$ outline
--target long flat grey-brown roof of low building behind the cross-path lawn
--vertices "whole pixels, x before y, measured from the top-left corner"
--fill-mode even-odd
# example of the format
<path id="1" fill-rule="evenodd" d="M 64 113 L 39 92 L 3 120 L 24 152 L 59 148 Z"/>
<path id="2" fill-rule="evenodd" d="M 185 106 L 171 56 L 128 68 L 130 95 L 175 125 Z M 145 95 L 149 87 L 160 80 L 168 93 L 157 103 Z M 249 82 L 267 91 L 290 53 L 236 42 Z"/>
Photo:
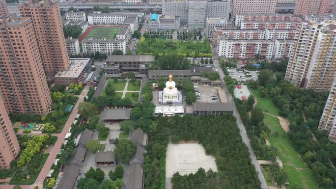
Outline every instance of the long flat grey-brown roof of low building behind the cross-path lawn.
<path id="1" fill-rule="evenodd" d="M 106 62 L 154 62 L 153 55 L 108 55 Z"/>

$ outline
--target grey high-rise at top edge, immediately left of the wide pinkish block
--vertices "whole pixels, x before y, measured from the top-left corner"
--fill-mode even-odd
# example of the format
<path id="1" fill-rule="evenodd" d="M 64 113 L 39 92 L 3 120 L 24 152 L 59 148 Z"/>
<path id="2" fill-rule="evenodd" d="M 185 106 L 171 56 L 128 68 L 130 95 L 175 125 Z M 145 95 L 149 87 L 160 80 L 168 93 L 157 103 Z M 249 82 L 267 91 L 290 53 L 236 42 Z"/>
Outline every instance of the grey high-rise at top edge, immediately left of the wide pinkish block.
<path id="1" fill-rule="evenodd" d="M 208 0 L 206 18 L 221 18 L 229 20 L 231 0 Z"/>

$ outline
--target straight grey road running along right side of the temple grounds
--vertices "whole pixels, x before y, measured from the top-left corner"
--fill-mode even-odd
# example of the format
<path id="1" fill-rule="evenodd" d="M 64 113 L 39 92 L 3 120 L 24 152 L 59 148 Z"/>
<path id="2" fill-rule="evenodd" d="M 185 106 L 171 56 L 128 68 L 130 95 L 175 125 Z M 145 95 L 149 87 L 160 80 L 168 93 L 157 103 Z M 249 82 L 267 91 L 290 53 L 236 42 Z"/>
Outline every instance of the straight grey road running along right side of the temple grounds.
<path id="1" fill-rule="evenodd" d="M 217 60 L 214 61 L 214 66 L 215 66 L 215 68 L 218 69 L 218 72 L 219 72 L 219 74 L 220 74 L 220 76 L 221 76 L 221 80 L 223 81 L 224 73 L 223 73 L 222 68 L 220 68 L 220 66 L 219 66 Z M 223 88 L 224 88 L 224 90 L 225 90 L 225 92 L 226 92 L 226 94 L 227 94 L 227 98 L 228 98 L 229 102 L 230 102 L 230 101 L 233 102 L 232 95 L 231 95 L 230 92 L 228 91 L 227 86 L 226 86 L 226 83 L 225 83 L 224 81 L 223 81 Z M 233 104 L 234 104 L 234 102 L 233 102 Z M 261 188 L 262 188 L 262 189 L 268 189 L 268 187 L 267 187 L 267 183 L 266 183 L 266 180 L 265 180 L 265 177 L 264 177 L 264 175 L 263 175 L 262 172 L 261 172 L 261 168 L 260 168 L 259 162 L 258 162 L 257 159 L 256 159 L 256 156 L 255 156 L 255 154 L 254 154 L 254 151 L 253 151 L 252 146 L 251 146 L 251 143 L 250 143 L 250 139 L 249 139 L 249 137 L 248 137 L 248 135 L 247 135 L 247 133 L 246 133 L 244 124 L 243 124 L 243 122 L 242 122 L 242 119 L 240 118 L 240 115 L 239 115 L 238 110 L 237 110 L 237 108 L 236 108 L 235 105 L 233 106 L 233 115 L 234 115 L 235 117 L 237 117 L 237 125 L 238 125 L 239 129 L 241 130 L 240 135 L 241 135 L 242 138 L 243 138 L 243 142 L 244 142 L 244 143 L 246 144 L 246 146 L 249 148 L 250 158 L 252 159 L 252 164 L 254 165 L 255 170 L 258 172 L 258 177 L 259 177 L 259 180 L 260 180 L 260 182 L 261 182 Z"/>

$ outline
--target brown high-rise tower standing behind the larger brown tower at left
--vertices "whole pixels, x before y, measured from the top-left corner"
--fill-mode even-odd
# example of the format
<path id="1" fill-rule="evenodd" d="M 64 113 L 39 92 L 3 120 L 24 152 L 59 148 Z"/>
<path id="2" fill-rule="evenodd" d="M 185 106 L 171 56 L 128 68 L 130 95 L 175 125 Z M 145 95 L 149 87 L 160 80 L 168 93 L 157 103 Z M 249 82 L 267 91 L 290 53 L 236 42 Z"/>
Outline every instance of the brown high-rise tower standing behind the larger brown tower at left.
<path id="1" fill-rule="evenodd" d="M 69 66 L 58 4 L 49 0 L 29 0 L 19 9 L 22 16 L 31 18 L 44 71 L 48 78 L 54 78 L 57 71 Z"/>

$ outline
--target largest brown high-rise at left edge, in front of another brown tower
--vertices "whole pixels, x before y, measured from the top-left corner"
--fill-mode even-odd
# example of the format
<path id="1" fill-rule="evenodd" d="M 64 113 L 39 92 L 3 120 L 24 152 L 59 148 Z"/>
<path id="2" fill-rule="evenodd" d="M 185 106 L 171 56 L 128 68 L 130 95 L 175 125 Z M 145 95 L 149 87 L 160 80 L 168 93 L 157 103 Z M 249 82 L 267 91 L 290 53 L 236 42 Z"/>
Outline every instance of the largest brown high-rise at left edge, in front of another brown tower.
<path id="1" fill-rule="evenodd" d="M 9 113 L 49 112 L 52 100 L 30 18 L 0 18 L 0 92 Z"/>

